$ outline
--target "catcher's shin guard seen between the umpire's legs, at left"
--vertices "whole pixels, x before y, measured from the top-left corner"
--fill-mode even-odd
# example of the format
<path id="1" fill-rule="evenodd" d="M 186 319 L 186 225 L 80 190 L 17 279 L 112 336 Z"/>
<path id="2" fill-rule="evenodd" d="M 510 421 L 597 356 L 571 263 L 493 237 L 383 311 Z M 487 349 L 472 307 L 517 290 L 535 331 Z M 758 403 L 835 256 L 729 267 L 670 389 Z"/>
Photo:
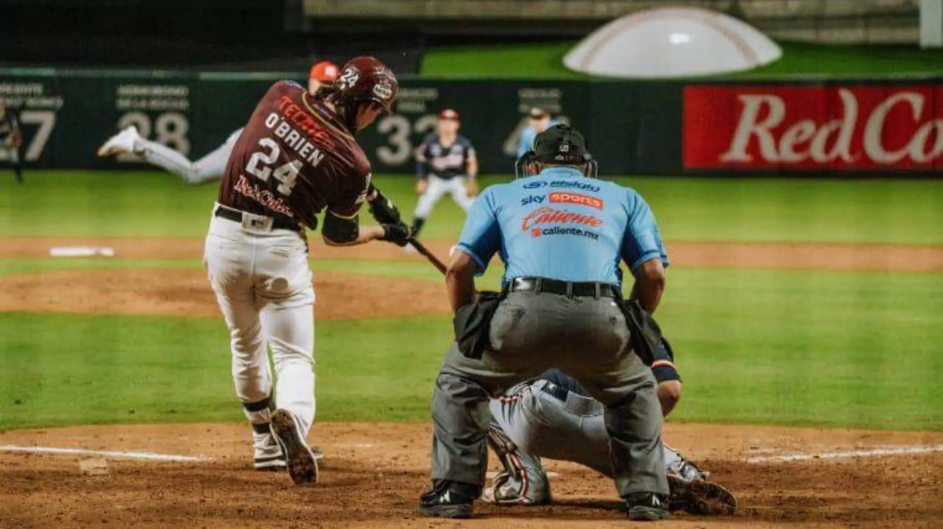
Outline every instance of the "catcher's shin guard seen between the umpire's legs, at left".
<path id="1" fill-rule="evenodd" d="M 505 470 L 482 492 L 483 501 L 497 505 L 547 505 L 551 502 L 550 482 L 538 457 L 523 453 L 496 425 L 488 430 L 488 445 Z"/>

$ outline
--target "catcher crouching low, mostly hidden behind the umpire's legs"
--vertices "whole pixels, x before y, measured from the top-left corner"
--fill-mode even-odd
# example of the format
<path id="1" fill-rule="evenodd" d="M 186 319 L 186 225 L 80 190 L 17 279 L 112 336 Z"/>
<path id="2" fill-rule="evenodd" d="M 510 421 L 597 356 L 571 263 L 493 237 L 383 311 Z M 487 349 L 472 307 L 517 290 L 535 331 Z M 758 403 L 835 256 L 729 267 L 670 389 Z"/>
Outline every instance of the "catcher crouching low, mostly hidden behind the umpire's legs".
<path id="1" fill-rule="evenodd" d="M 670 345 L 664 342 L 652 371 L 661 411 L 668 417 L 681 397 L 681 376 Z M 604 408 L 573 377 L 551 370 L 519 384 L 490 404 L 488 443 L 505 470 L 495 476 L 482 499 L 499 505 L 545 505 L 550 483 L 540 457 L 571 461 L 612 477 Z M 708 475 L 662 444 L 670 479 L 670 510 L 691 514 L 733 514 L 736 498 L 709 482 Z"/>

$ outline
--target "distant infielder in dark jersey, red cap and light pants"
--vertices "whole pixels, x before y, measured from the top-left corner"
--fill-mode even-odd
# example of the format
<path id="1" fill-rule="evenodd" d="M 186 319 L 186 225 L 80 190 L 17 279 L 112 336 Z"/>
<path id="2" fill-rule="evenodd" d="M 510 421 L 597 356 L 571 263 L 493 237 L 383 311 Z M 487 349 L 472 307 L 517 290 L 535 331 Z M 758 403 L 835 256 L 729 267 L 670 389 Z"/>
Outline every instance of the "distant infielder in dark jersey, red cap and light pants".
<path id="1" fill-rule="evenodd" d="M 438 115 L 438 133 L 422 140 L 416 150 L 416 193 L 412 230 L 419 234 L 425 219 L 445 195 L 466 212 L 478 194 L 478 158 L 469 138 L 458 134 L 458 112 L 445 109 Z"/>

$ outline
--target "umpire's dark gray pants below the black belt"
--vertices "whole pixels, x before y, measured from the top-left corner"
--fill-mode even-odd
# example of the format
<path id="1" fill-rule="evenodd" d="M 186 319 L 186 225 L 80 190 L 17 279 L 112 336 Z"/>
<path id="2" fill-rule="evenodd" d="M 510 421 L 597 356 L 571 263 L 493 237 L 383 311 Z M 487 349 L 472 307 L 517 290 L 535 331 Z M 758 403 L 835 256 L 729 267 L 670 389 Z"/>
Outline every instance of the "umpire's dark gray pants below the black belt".
<path id="1" fill-rule="evenodd" d="M 445 354 L 433 395 L 433 480 L 483 487 L 488 398 L 558 368 L 604 406 L 620 495 L 668 494 L 654 377 L 628 338 L 624 316 L 610 298 L 509 294 L 491 321 L 493 352 L 476 361 L 452 345 Z"/>

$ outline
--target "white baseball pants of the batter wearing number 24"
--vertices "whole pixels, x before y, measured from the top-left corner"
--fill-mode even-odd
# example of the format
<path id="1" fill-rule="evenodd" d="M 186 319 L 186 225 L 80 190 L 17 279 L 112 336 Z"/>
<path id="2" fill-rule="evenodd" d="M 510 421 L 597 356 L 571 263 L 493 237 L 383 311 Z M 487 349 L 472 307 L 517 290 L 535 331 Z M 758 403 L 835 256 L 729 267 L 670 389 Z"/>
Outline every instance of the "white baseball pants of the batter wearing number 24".
<path id="1" fill-rule="evenodd" d="M 248 225 L 213 216 L 205 249 L 209 283 L 229 326 L 236 394 L 243 405 L 272 394 L 271 347 L 275 407 L 294 414 L 307 435 L 315 404 L 314 287 L 306 241 L 290 230 Z M 267 412 L 246 411 L 246 417 L 263 423 Z"/>

